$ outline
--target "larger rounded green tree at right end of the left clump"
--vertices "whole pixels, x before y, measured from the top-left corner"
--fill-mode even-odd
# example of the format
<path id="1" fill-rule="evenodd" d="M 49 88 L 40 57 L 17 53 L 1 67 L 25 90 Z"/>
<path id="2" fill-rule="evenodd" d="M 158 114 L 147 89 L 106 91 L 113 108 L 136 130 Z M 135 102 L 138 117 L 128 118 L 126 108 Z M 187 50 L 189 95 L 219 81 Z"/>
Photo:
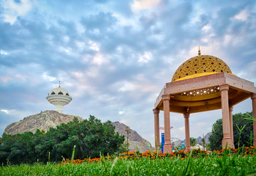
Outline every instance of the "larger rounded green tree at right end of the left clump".
<path id="1" fill-rule="evenodd" d="M 72 122 L 51 128 L 46 136 L 47 144 L 43 146 L 54 153 L 56 147 L 53 146 L 57 145 L 58 159 L 61 159 L 61 155 L 70 158 L 74 145 L 75 158 L 94 158 L 100 156 L 100 153 L 113 154 L 125 140 L 124 136 L 114 132 L 114 126 L 110 121 L 102 123 L 93 116 L 90 116 L 89 120 L 79 122 L 76 118 Z"/>

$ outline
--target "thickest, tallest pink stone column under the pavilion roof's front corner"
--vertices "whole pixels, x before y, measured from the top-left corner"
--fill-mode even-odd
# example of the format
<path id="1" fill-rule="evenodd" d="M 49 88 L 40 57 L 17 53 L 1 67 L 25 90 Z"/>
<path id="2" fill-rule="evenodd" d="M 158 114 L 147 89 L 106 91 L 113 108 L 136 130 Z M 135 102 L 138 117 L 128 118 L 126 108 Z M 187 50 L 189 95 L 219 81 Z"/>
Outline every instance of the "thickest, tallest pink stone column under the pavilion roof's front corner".
<path id="1" fill-rule="evenodd" d="M 228 89 L 227 84 L 221 85 L 219 90 L 222 93 L 222 125 L 223 125 L 223 139 L 222 147 L 232 147 L 232 139 L 230 134 L 230 112 L 228 105 Z"/>

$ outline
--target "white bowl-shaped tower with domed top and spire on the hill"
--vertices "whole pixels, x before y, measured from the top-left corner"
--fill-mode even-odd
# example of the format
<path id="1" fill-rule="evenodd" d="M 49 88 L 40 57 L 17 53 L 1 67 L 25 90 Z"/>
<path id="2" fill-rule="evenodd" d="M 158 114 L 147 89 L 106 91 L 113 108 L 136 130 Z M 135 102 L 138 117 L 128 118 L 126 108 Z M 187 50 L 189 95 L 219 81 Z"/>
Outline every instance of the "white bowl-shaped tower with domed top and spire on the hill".
<path id="1" fill-rule="evenodd" d="M 48 93 L 46 99 L 48 102 L 56 106 L 56 111 L 59 113 L 63 113 L 63 106 L 67 105 L 72 100 L 67 90 L 60 87 L 60 81 L 59 87 L 52 89 L 51 92 Z"/>

